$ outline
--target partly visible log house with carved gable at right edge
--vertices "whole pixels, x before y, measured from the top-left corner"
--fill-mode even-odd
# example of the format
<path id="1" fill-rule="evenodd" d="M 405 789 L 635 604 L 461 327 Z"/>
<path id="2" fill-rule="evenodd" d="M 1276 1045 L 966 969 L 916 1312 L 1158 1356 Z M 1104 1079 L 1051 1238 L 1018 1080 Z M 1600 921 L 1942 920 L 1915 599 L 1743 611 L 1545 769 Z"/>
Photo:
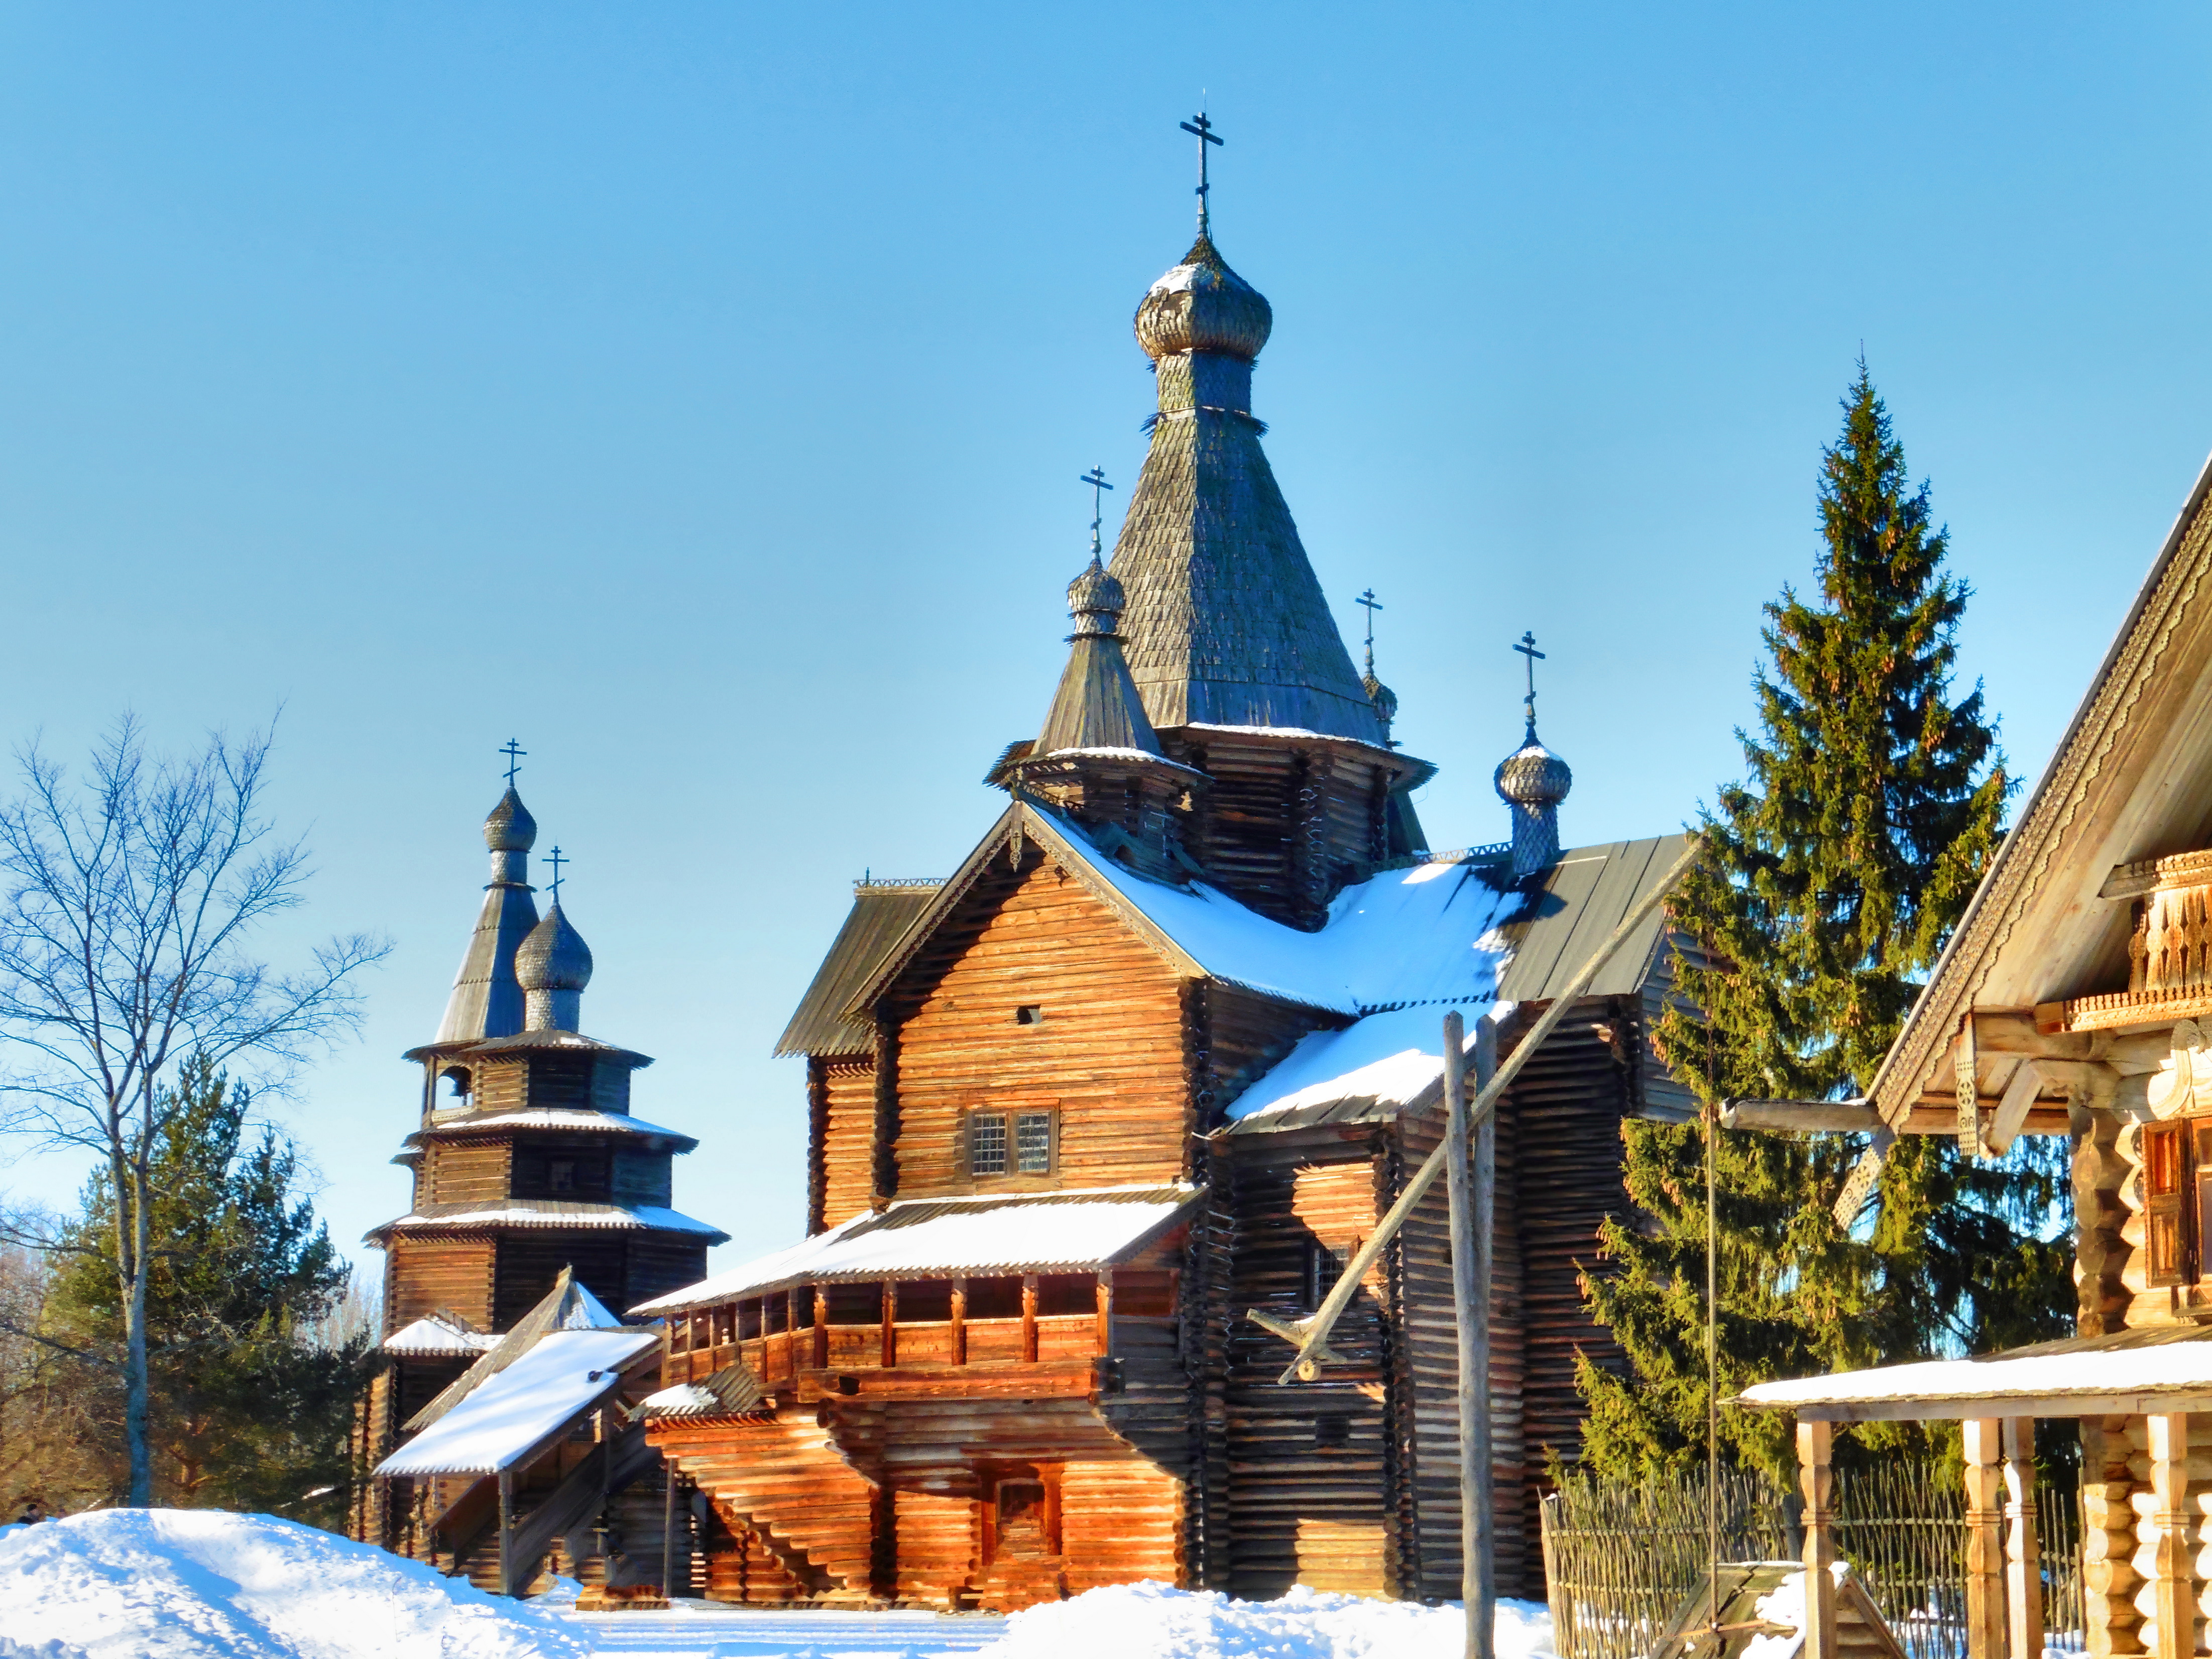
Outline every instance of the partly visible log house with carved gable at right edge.
<path id="1" fill-rule="evenodd" d="M 1807 1564 L 1836 1422 L 1966 1425 L 1969 1650 L 2046 1646 L 2035 1420 L 2081 1433 L 2086 1650 L 2188 1659 L 2212 1613 L 2212 467 L 1858 1106 L 1997 1155 L 2068 1135 L 2079 1334 L 1745 1391 L 1794 1411 Z M 1814 1110 L 1770 1104 L 1767 1126 Z M 1741 1115 L 1741 1113 L 1739 1113 Z M 1814 1498 L 1823 1493 L 1823 1498 Z"/>

